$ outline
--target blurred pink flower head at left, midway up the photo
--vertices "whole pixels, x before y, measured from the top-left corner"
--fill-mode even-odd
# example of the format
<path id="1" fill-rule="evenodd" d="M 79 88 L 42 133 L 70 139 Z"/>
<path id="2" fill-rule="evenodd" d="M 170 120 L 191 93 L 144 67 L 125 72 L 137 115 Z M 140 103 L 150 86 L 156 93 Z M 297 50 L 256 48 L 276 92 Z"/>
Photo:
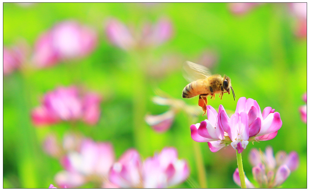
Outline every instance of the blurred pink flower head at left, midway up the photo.
<path id="1" fill-rule="evenodd" d="M 76 87 L 58 87 L 44 95 L 42 105 L 33 109 L 32 122 L 35 126 L 51 125 L 61 120 L 82 119 L 94 125 L 100 117 L 101 97 L 95 93 L 79 95 Z"/>

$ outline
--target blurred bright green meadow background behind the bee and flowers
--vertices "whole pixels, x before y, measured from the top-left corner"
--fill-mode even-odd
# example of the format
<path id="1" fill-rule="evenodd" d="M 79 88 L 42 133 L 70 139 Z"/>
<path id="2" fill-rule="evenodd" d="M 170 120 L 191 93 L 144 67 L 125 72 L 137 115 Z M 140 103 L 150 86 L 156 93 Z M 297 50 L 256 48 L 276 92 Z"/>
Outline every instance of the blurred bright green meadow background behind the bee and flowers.
<path id="1" fill-rule="evenodd" d="M 242 152 L 249 180 L 254 182 L 250 149 L 265 150 L 270 145 L 275 153 L 299 154 L 299 168 L 282 188 L 306 188 L 307 125 L 299 112 L 307 91 L 303 12 L 289 3 L 241 7 L 228 3 L 4 3 L 3 46 L 23 44 L 27 53 L 24 63 L 3 78 L 3 187 L 57 186 L 54 176 L 63 168 L 58 159 L 44 152 L 43 142 L 51 133 L 61 140 L 65 133 L 75 131 L 95 141 L 110 142 L 116 158 L 129 148 L 147 158 L 166 146 L 175 147 L 179 158 L 188 161 L 190 175 L 174 188 L 200 187 L 199 160 L 208 188 L 239 188 L 232 180 L 237 167 L 235 151 L 228 146 L 212 153 L 207 143 L 194 142 L 189 129 L 192 122 L 185 111 L 177 113 L 170 129 L 163 133 L 154 131 L 144 120 L 146 114 L 160 114 L 169 108 L 152 102 L 158 90 L 197 105 L 197 97 L 181 97 L 188 84 L 182 64 L 190 60 L 232 79 L 236 101 L 232 95 L 224 94 L 223 100 L 216 96 L 208 102 L 214 108 L 223 104 L 234 111 L 237 100 L 244 96 L 257 100 L 261 109 L 270 106 L 281 115 L 283 125 L 274 139 L 249 143 Z M 155 24 L 164 18 L 172 31 L 157 45 L 124 49 L 111 43 L 106 33 L 111 18 L 135 33 L 145 23 Z M 93 50 L 81 58 L 36 67 L 31 58 L 38 37 L 66 20 L 96 31 Z M 41 104 L 44 94 L 72 85 L 102 96 L 98 123 L 34 126 L 31 111 Z M 200 112 L 197 122 L 206 119 Z M 198 159 L 197 148 L 201 154 Z M 93 187 L 91 183 L 82 186 Z"/>

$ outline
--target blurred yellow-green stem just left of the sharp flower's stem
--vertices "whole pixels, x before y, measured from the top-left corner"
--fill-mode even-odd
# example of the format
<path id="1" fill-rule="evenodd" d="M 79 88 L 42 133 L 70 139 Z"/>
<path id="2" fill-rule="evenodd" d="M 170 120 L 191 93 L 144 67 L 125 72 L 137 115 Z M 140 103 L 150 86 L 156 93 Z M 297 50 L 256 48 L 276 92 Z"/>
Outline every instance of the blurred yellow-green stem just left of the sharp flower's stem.
<path id="1" fill-rule="evenodd" d="M 201 154 L 199 143 L 193 141 L 193 149 L 195 153 L 196 167 L 198 171 L 198 180 L 199 180 L 200 187 L 207 188 L 206 171 L 203 166 L 202 154 Z"/>

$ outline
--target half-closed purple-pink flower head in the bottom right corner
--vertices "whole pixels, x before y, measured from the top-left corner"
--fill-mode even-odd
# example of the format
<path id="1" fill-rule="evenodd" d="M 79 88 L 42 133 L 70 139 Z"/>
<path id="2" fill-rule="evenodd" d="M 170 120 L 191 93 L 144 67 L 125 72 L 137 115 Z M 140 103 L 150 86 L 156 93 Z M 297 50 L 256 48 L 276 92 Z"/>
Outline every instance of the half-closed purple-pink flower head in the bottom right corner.
<path id="1" fill-rule="evenodd" d="M 290 152 L 288 155 L 284 151 L 279 151 L 274 157 L 271 147 L 266 147 L 265 153 L 257 149 L 251 149 L 249 160 L 253 166 L 254 180 L 259 184 L 259 188 L 279 187 L 290 173 L 299 166 L 298 154 L 295 151 Z M 233 179 L 240 186 L 238 168 L 233 174 Z M 246 182 L 248 182 L 246 184 L 247 188 L 254 188 L 249 180 Z"/>

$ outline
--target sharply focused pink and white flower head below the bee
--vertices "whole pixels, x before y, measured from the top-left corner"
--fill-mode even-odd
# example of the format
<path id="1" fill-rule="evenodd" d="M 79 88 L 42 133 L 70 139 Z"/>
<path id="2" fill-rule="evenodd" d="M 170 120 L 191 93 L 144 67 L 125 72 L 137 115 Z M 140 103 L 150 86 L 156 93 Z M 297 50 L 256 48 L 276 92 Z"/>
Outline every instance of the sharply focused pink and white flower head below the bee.
<path id="1" fill-rule="evenodd" d="M 228 117 L 224 107 L 219 105 L 219 113 L 207 105 L 208 119 L 191 125 L 191 136 L 196 142 L 208 142 L 212 152 L 231 144 L 241 153 L 249 141 L 273 139 L 282 126 L 280 114 L 271 107 L 261 113 L 256 100 L 241 97 L 236 111 Z"/>

